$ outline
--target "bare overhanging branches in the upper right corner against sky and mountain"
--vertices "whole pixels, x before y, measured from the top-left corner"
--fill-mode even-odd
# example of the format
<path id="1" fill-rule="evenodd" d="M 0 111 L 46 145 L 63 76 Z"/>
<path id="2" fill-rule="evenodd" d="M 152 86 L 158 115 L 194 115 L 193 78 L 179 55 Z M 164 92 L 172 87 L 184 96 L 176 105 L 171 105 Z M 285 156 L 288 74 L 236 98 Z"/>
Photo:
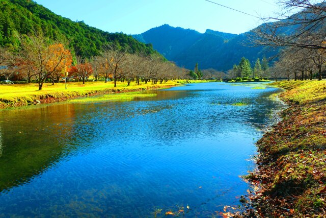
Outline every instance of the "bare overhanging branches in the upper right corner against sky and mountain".
<path id="1" fill-rule="evenodd" d="M 326 37 L 326 7 L 307 0 L 279 0 L 283 10 L 278 17 L 264 18 L 264 25 L 256 28 L 254 42 L 259 45 L 324 49 Z M 299 12 L 297 12 L 300 10 Z M 270 22 L 277 20 L 277 22 Z M 313 40 L 301 40 L 303 36 Z"/>

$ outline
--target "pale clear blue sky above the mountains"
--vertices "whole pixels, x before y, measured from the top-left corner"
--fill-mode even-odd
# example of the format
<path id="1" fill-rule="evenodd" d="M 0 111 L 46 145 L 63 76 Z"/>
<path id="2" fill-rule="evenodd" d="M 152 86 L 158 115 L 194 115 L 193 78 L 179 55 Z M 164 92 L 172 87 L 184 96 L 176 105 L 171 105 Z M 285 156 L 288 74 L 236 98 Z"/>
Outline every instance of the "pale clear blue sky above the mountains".
<path id="1" fill-rule="evenodd" d="M 273 0 L 211 0 L 258 16 L 273 16 L 279 7 Z M 51 11 L 73 21 L 84 20 L 89 26 L 108 32 L 140 34 L 164 25 L 227 33 L 244 33 L 262 23 L 205 0 L 35 0 Z"/>

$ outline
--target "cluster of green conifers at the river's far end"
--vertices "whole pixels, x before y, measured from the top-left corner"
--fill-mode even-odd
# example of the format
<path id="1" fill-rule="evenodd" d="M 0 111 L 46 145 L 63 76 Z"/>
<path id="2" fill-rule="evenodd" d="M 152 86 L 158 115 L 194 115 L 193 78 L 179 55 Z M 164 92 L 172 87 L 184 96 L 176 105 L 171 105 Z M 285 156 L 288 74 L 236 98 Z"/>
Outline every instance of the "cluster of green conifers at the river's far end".
<path id="1" fill-rule="evenodd" d="M 249 78 L 249 77 L 268 77 L 268 60 L 263 57 L 262 63 L 260 59 L 257 58 L 254 68 L 252 68 L 250 61 L 244 57 L 241 58 L 239 65 L 234 64 L 233 68 L 228 71 L 228 77 L 230 79 L 234 78 Z"/>

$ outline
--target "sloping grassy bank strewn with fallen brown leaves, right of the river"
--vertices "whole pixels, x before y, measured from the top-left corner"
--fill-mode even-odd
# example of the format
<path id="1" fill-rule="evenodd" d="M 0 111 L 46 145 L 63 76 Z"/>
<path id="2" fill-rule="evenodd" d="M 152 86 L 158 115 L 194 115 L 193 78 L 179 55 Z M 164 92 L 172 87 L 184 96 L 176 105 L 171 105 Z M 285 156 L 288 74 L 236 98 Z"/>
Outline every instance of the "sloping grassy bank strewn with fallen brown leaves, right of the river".
<path id="1" fill-rule="evenodd" d="M 258 142 L 259 191 L 250 197 L 262 217 L 326 217 L 326 81 L 273 83 L 286 89 L 282 121 Z"/>

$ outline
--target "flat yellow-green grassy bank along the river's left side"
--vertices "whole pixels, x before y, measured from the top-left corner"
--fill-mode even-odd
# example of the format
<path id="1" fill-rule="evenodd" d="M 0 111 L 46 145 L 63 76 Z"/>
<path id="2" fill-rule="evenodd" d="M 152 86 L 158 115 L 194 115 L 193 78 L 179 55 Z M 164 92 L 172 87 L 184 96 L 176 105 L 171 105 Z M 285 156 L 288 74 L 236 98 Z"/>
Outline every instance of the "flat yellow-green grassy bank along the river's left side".
<path id="1" fill-rule="evenodd" d="M 138 92 L 150 89 L 169 88 L 184 84 L 186 80 L 168 81 L 162 84 L 148 84 L 131 82 L 130 86 L 127 83 L 117 82 L 117 87 L 114 87 L 114 82 L 82 82 L 67 83 L 65 89 L 64 83 L 44 84 L 42 90 L 38 90 L 38 85 L 31 84 L 10 84 L 0 85 L 0 108 L 19 107 L 27 105 L 35 105 L 39 103 L 54 103 L 62 102 L 70 99 L 75 99 L 82 96 L 93 96 L 100 94 L 113 94 L 119 92 Z M 207 80 L 188 80 L 188 83 L 210 82 Z M 119 96 L 103 96 L 102 100 L 118 101 L 118 98 L 132 99 L 145 97 L 135 93 L 137 96 L 119 95 Z M 83 100 L 77 100 L 83 101 Z M 94 100 L 95 101 L 95 100 Z"/>

